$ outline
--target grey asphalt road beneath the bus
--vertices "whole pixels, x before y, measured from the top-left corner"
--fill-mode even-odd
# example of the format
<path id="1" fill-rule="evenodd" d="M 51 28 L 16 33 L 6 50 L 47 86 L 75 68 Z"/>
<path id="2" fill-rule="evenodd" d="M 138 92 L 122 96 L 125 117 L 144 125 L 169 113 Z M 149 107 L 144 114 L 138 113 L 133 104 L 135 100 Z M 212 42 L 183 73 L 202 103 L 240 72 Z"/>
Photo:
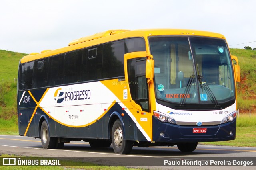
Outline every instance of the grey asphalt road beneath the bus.
<path id="1" fill-rule="evenodd" d="M 253 166 L 225 166 L 225 169 L 255 169 L 256 148 L 255 147 L 222 147 L 210 145 L 198 145 L 194 152 L 180 152 L 177 147 L 133 147 L 129 155 L 117 155 L 112 146 L 109 148 L 92 148 L 89 143 L 78 141 L 65 143 L 63 149 L 43 149 L 40 139 L 32 137 L 0 135 L 0 154 L 15 154 L 34 157 L 55 157 L 55 158 L 79 158 L 87 162 L 106 165 L 143 166 L 149 169 L 174 169 L 187 170 L 199 168 L 216 169 L 223 166 L 164 166 L 164 159 L 175 160 L 211 160 L 225 161 L 237 160 L 246 161 L 253 159 Z M 152 161 L 159 160 L 162 166 L 147 166 Z M 130 161 L 130 163 L 129 163 Z M 133 163 L 136 162 L 137 163 Z M 198 162 L 196 162 L 198 163 Z M 168 165 L 168 164 L 166 164 Z M 217 168 L 217 169 L 218 169 Z"/>

